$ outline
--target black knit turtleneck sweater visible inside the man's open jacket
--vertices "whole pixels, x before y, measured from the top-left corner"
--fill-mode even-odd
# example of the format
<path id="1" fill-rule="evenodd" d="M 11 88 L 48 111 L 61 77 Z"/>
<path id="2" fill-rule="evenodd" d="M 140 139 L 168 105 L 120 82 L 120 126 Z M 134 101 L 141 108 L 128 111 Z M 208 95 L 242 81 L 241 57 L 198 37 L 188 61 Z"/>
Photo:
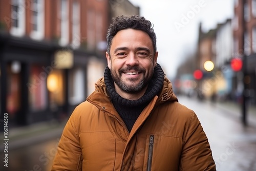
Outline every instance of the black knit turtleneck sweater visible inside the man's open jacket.
<path id="1" fill-rule="evenodd" d="M 159 64 L 154 68 L 154 74 L 150 82 L 148 83 L 145 94 L 138 100 L 128 100 L 122 98 L 116 93 L 114 88 L 114 81 L 112 79 L 110 69 L 106 67 L 104 72 L 104 81 L 106 84 L 106 90 L 111 98 L 111 101 L 123 119 L 129 132 L 139 117 L 145 106 L 156 96 L 162 89 L 164 79 L 164 72 Z"/>

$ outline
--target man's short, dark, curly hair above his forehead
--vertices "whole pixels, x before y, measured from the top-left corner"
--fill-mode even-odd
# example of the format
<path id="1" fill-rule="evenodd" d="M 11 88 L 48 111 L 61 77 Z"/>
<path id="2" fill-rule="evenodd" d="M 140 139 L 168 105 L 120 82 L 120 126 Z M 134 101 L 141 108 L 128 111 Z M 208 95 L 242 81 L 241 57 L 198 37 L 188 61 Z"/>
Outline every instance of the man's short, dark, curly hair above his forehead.
<path id="1" fill-rule="evenodd" d="M 156 34 L 153 29 L 153 24 L 149 21 L 146 20 L 143 16 L 138 16 L 138 15 L 132 15 L 132 16 L 117 16 L 112 18 L 112 24 L 109 27 L 108 34 L 106 35 L 106 51 L 110 54 L 110 47 L 112 44 L 112 39 L 116 35 L 116 33 L 120 30 L 124 29 L 136 29 L 136 30 L 141 30 L 144 31 L 145 33 L 150 36 L 152 43 L 153 43 L 153 48 L 154 48 L 154 54 L 157 51 L 156 47 Z"/>

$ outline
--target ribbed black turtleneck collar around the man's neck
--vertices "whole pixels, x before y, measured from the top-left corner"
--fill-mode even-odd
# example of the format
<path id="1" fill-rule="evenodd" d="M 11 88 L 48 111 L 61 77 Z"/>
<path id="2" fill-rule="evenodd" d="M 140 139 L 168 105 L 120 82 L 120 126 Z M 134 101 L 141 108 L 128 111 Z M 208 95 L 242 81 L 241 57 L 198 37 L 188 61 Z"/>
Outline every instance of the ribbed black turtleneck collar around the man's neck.
<path id="1" fill-rule="evenodd" d="M 114 81 L 112 79 L 110 69 L 108 68 L 108 66 L 105 68 L 104 72 L 106 90 L 112 102 L 115 104 L 120 104 L 122 106 L 127 106 L 129 108 L 148 104 L 154 98 L 154 96 L 158 95 L 159 92 L 161 91 L 163 86 L 163 80 L 164 72 L 161 66 L 157 63 L 157 66 L 154 68 L 154 74 L 152 76 L 152 79 L 148 83 L 148 87 L 145 94 L 138 100 L 128 100 L 122 98 L 119 94 L 116 93 L 114 88 Z"/>

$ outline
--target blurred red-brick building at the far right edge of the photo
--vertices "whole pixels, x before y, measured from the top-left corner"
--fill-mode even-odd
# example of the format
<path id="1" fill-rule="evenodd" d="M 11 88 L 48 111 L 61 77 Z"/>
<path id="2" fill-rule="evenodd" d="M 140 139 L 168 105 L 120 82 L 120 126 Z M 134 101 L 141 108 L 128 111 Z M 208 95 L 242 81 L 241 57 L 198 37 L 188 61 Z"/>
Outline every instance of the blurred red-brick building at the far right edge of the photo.
<path id="1" fill-rule="evenodd" d="M 245 94 L 256 104 L 256 1 L 238 0 L 234 3 L 233 58 L 243 60 L 243 71 L 237 73 L 237 94 Z M 241 76 L 243 75 L 243 77 Z M 242 78 L 241 78 L 242 77 Z M 243 86 L 242 86 L 243 85 Z M 245 90 L 241 92 L 241 87 Z"/>

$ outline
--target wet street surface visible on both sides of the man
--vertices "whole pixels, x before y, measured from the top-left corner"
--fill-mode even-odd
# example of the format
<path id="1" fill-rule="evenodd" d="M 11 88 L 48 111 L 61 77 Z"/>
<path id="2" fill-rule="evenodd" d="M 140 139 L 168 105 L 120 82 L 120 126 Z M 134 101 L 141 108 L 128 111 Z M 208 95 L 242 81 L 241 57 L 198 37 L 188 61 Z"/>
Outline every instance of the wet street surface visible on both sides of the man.
<path id="1" fill-rule="evenodd" d="M 178 96 L 178 99 L 194 110 L 201 121 L 218 171 L 256 170 L 256 124 L 252 119 L 244 127 L 239 118 L 239 108 L 225 108 L 220 103 L 183 96 Z M 56 136 L 45 142 L 9 151 L 8 169 L 4 167 L 4 170 L 50 170 L 58 141 L 59 137 Z M 1 158 L 3 160 L 3 153 Z"/>

